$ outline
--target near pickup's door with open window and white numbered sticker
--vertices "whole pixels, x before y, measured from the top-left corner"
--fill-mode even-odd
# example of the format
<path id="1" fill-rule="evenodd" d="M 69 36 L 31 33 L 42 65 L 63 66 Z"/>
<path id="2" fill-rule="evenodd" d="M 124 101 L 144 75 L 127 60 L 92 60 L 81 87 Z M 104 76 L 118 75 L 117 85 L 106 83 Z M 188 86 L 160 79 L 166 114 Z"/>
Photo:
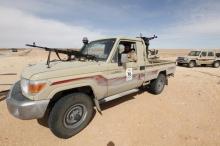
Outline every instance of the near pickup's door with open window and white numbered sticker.
<path id="1" fill-rule="evenodd" d="M 133 60 L 127 58 L 126 61 L 126 55 L 129 55 L 125 50 L 126 47 L 133 51 L 136 59 L 135 57 Z M 143 54 L 141 42 L 121 40 L 117 44 L 116 52 L 110 63 L 108 96 L 137 88 L 144 82 L 145 63 Z"/>

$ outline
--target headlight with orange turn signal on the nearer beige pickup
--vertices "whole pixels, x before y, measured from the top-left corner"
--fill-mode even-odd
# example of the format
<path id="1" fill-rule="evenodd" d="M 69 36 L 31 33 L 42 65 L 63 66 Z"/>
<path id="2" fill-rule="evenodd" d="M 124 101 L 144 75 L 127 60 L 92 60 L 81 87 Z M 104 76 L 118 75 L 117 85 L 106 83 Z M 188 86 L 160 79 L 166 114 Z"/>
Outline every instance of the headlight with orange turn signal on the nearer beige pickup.
<path id="1" fill-rule="evenodd" d="M 21 90 L 26 96 L 35 95 L 42 91 L 47 85 L 47 81 L 31 81 L 27 79 L 21 80 Z"/>

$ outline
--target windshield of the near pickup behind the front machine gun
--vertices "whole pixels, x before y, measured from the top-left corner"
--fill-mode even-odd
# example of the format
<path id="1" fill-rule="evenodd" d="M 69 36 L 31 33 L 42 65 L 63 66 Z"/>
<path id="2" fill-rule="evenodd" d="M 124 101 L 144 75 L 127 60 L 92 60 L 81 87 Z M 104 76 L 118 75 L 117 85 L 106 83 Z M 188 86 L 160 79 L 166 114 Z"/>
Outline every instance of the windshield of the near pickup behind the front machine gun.
<path id="1" fill-rule="evenodd" d="M 82 48 L 81 53 L 84 55 L 92 55 L 97 60 L 106 61 L 116 39 L 104 39 L 92 41 Z"/>

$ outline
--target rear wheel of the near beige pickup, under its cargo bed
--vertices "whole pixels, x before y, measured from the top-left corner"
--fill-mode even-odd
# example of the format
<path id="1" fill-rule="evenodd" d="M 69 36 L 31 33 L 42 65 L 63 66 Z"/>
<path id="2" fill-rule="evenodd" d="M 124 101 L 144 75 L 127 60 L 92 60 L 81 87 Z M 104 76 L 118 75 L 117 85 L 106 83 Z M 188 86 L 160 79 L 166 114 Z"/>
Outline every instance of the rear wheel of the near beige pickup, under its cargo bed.
<path id="1" fill-rule="evenodd" d="M 150 92 L 157 95 L 160 94 L 163 89 L 164 86 L 166 84 L 166 76 L 164 74 L 159 74 L 157 79 L 153 80 L 150 83 Z"/>

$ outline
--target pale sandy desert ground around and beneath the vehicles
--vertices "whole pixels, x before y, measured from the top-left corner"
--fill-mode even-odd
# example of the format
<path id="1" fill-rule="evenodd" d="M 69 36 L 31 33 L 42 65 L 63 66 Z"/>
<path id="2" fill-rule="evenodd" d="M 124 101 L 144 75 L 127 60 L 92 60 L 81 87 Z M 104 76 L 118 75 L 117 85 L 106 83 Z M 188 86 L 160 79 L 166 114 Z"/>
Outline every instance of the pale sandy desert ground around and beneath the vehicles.
<path id="1" fill-rule="evenodd" d="M 187 50 L 161 51 L 175 59 Z M 0 84 L 19 79 L 24 66 L 45 61 L 46 54 L 0 58 Z M 9 88 L 0 85 L 0 90 Z M 0 145 L 13 146 L 217 146 L 220 145 L 220 68 L 177 67 L 175 77 L 160 95 L 145 92 L 102 105 L 91 123 L 76 136 L 63 140 L 36 120 L 12 117 L 0 101 Z"/>

